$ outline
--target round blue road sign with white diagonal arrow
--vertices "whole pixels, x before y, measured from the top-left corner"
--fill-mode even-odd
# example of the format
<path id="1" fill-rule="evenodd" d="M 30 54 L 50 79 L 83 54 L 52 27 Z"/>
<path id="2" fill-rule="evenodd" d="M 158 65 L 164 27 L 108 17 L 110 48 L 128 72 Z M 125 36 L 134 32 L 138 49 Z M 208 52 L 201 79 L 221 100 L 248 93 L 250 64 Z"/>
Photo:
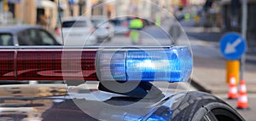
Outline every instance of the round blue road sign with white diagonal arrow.
<path id="1" fill-rule="evenodd" d="M 221 38 L 219 47 L 225 58 L 228 60 L 238 60 L 246 52 L 247 43 L 240 34 L 230 32 Z"/>

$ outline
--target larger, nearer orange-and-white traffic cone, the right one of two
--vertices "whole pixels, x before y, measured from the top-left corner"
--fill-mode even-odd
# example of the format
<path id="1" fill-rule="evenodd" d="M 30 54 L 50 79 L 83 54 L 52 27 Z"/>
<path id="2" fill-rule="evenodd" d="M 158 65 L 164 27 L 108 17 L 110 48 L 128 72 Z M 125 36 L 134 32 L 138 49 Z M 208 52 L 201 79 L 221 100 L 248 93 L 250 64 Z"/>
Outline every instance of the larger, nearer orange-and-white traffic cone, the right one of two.
<path id="1" fill-rule="evenodd" d="M 247 86 L 244 80 L 240 82 L 240 90 L 237 100 L 237 109 L 247 109 L 248 108 L 248 98 L 247 98 Z"/>

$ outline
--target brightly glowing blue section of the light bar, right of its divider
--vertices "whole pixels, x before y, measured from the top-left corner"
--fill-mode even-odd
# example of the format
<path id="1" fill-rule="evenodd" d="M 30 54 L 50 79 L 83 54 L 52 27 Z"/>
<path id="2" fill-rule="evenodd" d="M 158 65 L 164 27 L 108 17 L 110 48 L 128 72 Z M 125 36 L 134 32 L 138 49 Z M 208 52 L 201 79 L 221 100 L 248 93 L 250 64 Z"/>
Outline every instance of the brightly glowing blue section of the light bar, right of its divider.
<path id="1" fill-rule="evenodd" d="M 169 50 L 131 50 L 127 52 L 126 73 L 128 81 L 177 81 L 181 78 L 180 60 Z"/>

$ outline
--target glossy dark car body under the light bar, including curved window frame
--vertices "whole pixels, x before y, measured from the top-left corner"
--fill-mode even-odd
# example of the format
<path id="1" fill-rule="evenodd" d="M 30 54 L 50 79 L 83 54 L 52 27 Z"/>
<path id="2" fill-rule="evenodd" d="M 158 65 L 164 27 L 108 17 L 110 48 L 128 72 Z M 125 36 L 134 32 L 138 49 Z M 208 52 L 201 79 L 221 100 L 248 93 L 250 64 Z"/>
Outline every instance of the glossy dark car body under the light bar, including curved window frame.
<path id="1" fill-rule="evenodd" d="M 147 119 L 160 121 L 170 119 L 199 120 L 208 116 L 212 118 L 212 115 L 209 115 L 209 111 L 212 111 L 211 113 L 215 116 L 215 119 L 218 120 L 242 120 L 235 110 L 227 107 L 227 105 L 223 101 L 219 101 L 217 97 L 208 94 L 199 94 L 198 92 L 174 93 L 171 89 L 170 93 L 165 97 L 161 97 L 158 100 L 145 99 L 137 104 L 137 101 L 140 99 L 104 93 L 105 97 L 102 97 L 102 101 L 95 101 L 91 97 L 96 96 L 97 98 L 101 98 L 99 94 L 102 94 L 102 92 L 90 88 L 90 85 L 91 84 L 83 84 L 77 88 L 70 89 L 69 93 L 67 93 L 66 85 L 64 84 L 0 86 L 0 93 L 2 95 L 0 119 L 60 121 L 94 121 L 102 119 Z M 14 93 L 15 91 L 19 93 Z M 195 98 L 192 96 L 195 96 Z M 192 107 L 191 104 L 195 102 L 199 103 L 204 99 L 209 101 L 208 104 L 204 104 L 205 107 Z M 221 107 L 216 106 L 217 102 Z M 203 109 L 209 110 L 202 112 L 201 110 Z M 215 110 L 223 110 L 223 113 L 217 113 Z M 201 112 L 201 114 L 194 115 L 194 117 L 186 117 L 186 115 L 193 115 L 192 113 L 196 112 Z"/>

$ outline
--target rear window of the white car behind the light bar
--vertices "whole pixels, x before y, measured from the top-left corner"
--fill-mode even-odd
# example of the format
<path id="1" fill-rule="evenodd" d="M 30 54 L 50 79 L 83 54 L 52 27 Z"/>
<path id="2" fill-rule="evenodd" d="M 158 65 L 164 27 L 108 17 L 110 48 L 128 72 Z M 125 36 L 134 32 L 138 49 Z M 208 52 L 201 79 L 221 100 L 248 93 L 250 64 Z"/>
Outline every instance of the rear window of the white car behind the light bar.
<path id="1" fill-rule="evenodd" d="M 62 23 L 62 27 L 69 28 L 69 27 L 85 27 L 87 26 L 87 23 L 85 20 L 70 20 L 70 21 L 64 21 Z"/>

